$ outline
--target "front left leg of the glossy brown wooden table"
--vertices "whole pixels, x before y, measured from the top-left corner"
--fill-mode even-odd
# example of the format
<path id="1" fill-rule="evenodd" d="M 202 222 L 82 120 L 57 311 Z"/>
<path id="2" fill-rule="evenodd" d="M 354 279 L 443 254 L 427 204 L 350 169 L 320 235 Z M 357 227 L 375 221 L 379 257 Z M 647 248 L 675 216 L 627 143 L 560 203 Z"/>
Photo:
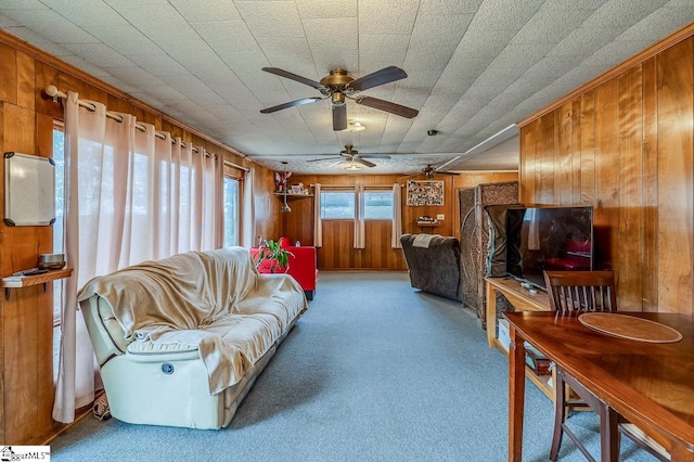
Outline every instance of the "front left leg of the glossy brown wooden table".
<path id="1" fill-rule="evenodd" d="M 513 324 L 509 351 L 509 461 L 523 460 L 523 407 L 525 405 L 525 346 Z"/>

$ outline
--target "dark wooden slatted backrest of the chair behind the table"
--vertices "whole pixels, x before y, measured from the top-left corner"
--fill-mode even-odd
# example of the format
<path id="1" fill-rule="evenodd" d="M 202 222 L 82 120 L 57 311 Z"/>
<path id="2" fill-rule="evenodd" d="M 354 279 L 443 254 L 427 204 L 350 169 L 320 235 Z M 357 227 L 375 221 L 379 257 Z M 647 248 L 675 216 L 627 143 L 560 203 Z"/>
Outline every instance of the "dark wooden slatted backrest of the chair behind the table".
<path id="1" fill-rule="evenodd" d="M 617 311 L 612 271 L 544 271 L 553 311 Z"/>

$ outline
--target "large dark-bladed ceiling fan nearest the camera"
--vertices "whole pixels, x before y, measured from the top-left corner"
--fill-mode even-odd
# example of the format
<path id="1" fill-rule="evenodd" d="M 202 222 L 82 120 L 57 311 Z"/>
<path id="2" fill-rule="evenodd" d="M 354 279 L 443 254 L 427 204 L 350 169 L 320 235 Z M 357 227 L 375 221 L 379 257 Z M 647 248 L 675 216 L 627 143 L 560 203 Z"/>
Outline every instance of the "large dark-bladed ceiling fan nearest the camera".
<path id="1" fill-rule="evenodd" d="M 417 110 L 391 103 L 389 101 L 380 100 L 372 97 L 363 97 L 361 91 L 368 90 L 381 85 L 390 84 L 391 81 L 406 78 L 408 75 L 404 70 L 397 66 L 385 67 L 375 73 L 367 74 L 358 79 L 351 78 L 345 69 L 333 69 L 329 76 L 321 79 L 320 82 L 292 74 L 278 67 L 262 67 L 266 73 L 274 74 L 280 77 L 288 78 L 299 84 L 313 87 L 321 92 L 323 97 L 304 98 L 301 100 L 290 101 L 288 103 L 279 104 L 277 106 L 261 110 L 262 114 L 270 114 L 287 107 L 295 107 L 301 104 L 314 103 L 316 101 L 326 100 L 330 98 L 333 107 L 333 130 L 339 131 L 347 128 L 347 106 L 346 100 L 352 100 L 357 104 L 373 107 L 375 110 L 385 111 L 390 114 L 412 118 L 419 114 Z"/>

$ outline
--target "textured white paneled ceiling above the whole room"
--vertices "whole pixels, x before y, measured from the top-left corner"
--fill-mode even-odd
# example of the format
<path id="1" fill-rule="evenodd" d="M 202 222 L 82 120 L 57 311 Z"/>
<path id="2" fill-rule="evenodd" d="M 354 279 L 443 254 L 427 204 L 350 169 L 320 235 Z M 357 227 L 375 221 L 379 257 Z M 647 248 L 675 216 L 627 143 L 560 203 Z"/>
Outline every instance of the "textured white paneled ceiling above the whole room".
<path id="1" fill-rule="evenodd" d="M 448 169 L 516 169 L 517 137 L 467 152 L 693 20 L 693 0 L 0 0 L 3 30 L 271 168 L 307 174 L 344 172 L 305 161 L 345 144 L 393 156 L 362 174 L 455 157 Z M 348 102 L 367 126 L 348 133 L 332 130 L 327 101 L 259 112 L 320 97 L 264 66 L 320 80 L 390 65 L 408 78 L 362 94 L 414 107 L 413 119 Z"/>

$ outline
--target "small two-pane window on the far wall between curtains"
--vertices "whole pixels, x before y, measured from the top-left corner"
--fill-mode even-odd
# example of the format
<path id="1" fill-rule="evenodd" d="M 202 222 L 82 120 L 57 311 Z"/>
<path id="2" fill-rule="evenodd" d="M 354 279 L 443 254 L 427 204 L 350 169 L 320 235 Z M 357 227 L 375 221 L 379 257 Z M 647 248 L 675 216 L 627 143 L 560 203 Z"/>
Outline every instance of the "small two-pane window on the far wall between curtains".
<path id="1" fill-rule="evenodd" d="M 393 191 L 367 191 L 364 193 L 364 218 L 367 220 L 393 219 Z M 321 192 L 322 220 L 354 220 L 355 192 Z"/>

